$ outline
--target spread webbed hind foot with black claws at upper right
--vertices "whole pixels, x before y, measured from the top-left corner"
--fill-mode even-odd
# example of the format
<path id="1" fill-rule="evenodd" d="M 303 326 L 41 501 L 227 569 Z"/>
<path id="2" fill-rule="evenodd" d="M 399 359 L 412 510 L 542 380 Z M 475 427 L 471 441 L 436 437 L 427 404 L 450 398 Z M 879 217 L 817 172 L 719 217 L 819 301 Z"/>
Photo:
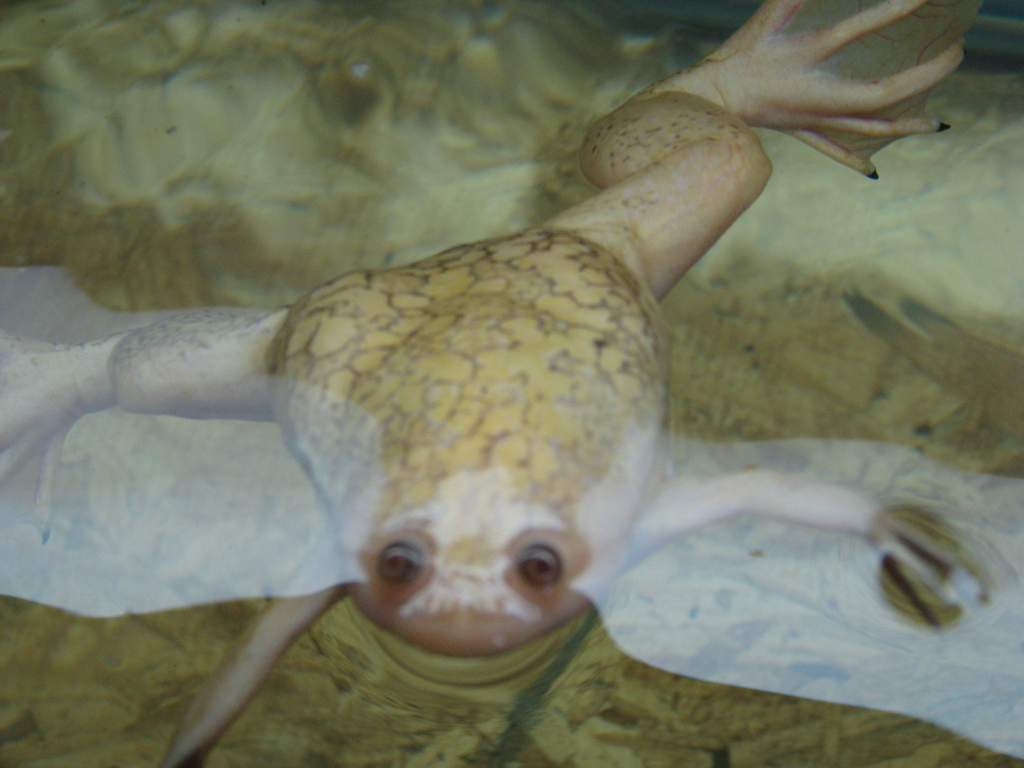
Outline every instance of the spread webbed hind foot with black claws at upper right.
<path id="1" fill-rule="evenodd" d="M 925 100 L 959 66 L 979 5 L 769 0 L 693 74 L 749 124 L 877 178 L 870 157 L 887 143 L 949 127 Z"/>

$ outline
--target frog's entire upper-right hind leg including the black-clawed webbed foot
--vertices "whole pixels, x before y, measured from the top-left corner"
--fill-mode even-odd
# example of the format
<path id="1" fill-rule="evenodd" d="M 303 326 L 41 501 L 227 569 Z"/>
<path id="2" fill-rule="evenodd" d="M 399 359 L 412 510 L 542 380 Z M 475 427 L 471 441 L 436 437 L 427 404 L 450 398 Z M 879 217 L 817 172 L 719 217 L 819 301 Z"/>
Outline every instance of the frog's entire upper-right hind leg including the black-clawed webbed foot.
<path id="1" fill-rule="evenodd" d="M 978 5 L 765 2 L 706 60 L 594 126 L 581 165 L 607 188 L 549 225 L 623 254 L 664 295 L 767 183 L 752 127 L 790 133 L 870 177 L 886 143 L 948 127 L 925 115 L 925 99 L 959 65 Z"/>

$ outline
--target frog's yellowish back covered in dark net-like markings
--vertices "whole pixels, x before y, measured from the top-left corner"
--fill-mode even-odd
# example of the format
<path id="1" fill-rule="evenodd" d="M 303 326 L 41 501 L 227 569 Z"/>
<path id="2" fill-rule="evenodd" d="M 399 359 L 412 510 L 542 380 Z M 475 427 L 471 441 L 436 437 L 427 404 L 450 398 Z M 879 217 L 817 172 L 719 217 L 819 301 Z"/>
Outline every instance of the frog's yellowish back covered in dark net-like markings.
<path id="1" fill-rule="evenodd" d="M 271 370 L 292 384 L 286 432 L 353 406 L 371 417 L 378 461 L 401 477 L 389 509 L 496 465 L 558 507 L 603 476 L 625 429 L 663 419 L 663 347 L 654 299 L 618 259 L 541 230 L 338 279 L 293 308 Z"/>

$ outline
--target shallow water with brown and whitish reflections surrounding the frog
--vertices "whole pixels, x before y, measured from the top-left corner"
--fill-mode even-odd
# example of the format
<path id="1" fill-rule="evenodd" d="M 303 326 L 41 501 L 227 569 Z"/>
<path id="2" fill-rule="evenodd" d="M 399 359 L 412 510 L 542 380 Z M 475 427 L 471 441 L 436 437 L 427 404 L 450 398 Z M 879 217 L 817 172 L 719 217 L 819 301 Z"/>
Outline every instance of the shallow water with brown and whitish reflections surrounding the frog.
<path id="1" fill-rule="evenodd" d="M 78 341 L 139 322 L 124 310 L 271 307 L 348 269 L 543 220 L 588 194 L 574 165 L 586 125 L 714 44 L 670 35 L 665 16 L 620 14 L 633 27 L 623 33 L 548 4 L 439 8 L 4 8 L 0 328 Z M 1024 433 L 1004 393 L 1024 344 L 1024 80 L 971 63 L 932 102 L 953 130 L 883 152 L 879 182 L 766 136 L 765 195 L 664 306 L 678 434 L 882 441 L 1000 475 L 939 475 L 946 502 L 974 513 L 956 529 L 1004 580 L 991 605 L 936 638 L 882 599 L 865 547 L 737 521 L 644 563 L 603 621 L 585 615 L 509 657 L 431 657 L 343 603 L 289 651 L 209 765 L 1019 764 L 985 744 L 1024 754 L 1020 566 L 1000 555 L 1021 551 L 1006 547 L 1020 537 Z M 914 356 L 857 321 L 844 300 L 854 292 L 898 317 L 912 299 L 957 331 L 923 337 Z M 238 592 L 220 597 L 276 593 L 301 565 L 275 557 L 296 516 L 307 531 L 322 522 L 276 437 L 91 416 L 69 438 L 55 509 L 94 517 L 58 516 L 52 541 L 85 552 L 99 541 L 119 565 L 8 561 L 0 573 L 48 585 L 48 602 L 98 601 L 95 613 L 137 604 L 129 594 L 154 608 L 224 584 Z M 680 462 L 697 462 L 687 445 Z M 861 471 L 865 452 L 833 450 L 783 459 Z M 912 464 L 908 493 L 927 495 L 929 466 Z M 240 550 L 266 568 L 232 573 Z M 155 764 L 263 607 L 84 618 L 0 598 L 0 766 Z M 870 677 L 880 669 L 888 678 Z M 908 691 L 902 674 L 925 684 Z M 918 705 L 975 740 L 882 711 Z"/>

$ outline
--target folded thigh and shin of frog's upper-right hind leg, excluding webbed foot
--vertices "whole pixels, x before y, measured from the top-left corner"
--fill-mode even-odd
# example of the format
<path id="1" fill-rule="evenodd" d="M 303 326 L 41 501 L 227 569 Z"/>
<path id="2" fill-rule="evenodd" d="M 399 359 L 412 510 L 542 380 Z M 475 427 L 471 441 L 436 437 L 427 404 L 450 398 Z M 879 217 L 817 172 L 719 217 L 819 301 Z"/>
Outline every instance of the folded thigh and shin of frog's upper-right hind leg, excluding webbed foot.
<path id="1" fill-rule="evenodd" d="M 638 96 L 599 121 L 580 154 L 599 195 L 547 222 L 618 254 L 666 294 L 761 194 L 757 135 L 690 93 Z"/>

